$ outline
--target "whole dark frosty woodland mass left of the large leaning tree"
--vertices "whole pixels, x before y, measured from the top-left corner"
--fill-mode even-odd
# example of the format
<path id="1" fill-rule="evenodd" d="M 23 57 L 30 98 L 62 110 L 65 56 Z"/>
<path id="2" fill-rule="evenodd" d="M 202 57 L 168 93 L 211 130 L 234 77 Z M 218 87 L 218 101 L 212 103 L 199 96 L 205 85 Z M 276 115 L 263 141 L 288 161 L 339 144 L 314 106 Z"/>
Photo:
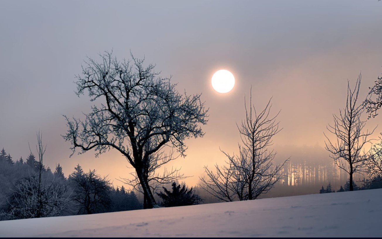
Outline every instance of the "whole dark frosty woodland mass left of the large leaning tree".
<path id="1" fill-rule="evenodd" d="M 42 133 L 37 133 L 36 152 L 28 161 L 22 157 L 16 162 L 0 161 L 0 220 L 53 217 L 62 215 L 93 214 L 141 209 L 133 191 L 114 189 L 106 177 L 95 170 L 84 173 L 77 165 L 65 178 L 57 164 L 55 172 L 44 165 L 46 145 Z M 3 149 L 2 159 L 8 159 Z"/>

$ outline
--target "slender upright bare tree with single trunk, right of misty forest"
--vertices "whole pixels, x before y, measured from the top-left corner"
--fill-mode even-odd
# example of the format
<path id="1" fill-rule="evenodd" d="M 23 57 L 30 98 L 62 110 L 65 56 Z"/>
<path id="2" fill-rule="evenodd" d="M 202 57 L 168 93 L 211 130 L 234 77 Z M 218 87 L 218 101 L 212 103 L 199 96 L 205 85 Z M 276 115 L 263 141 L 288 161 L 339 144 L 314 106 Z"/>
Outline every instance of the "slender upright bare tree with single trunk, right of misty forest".
<path id="1" fill-rule="evenodd" d="M 350 89 L 348 81 L 348 94 L 346 98 L 346 106 L 340 110 L 340 115 L 333 114 L 334 124 L 327 126 L 327 130 L 335 135 L 336 139 L 330 140 L 324 133 L 325 149 L 328 150 L 334 162 L 340 169 L 345 170 L 350 176 L 350 191 L 353 191 L 353 174 L 361 172 L 365 163 L 372 158 L 366 150 L 367 143 L 371 143 L 372 139 L 368 137 L 374 132 L 363 132 L 366 121 L 361 120 L 361 116 L 365 110 L 364 104 L 357 104 L 359 86 L 361 84 L 361 74 L 358 76 L 354 90 Z M 366 152 L 369 151 L 369 152 Z"/>

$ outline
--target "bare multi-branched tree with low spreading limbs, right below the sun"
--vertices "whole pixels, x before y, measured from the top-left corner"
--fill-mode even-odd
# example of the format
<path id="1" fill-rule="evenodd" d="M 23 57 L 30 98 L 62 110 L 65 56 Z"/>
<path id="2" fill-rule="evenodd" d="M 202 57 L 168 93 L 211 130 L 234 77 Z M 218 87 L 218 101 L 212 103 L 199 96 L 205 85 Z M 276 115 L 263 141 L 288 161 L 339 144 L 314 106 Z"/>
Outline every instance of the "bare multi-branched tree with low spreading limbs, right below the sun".
<path id="1" fill-rule="evenodd" d="M 272 98 L 271 98 L 272 99 Z M 257 113 L 252 105 L 252 89 L 249 100 L 249 110 L 244 98 L 246 118 L 238 127 L 241 144 L 239 155 L 230 156 L 227 166 L 215 165 L 216 174 L 205 167 L 207 178 L 201 177 L 201 187 L 222 201 L 253 200 L 272 189 L 282 178 L 282 167 L 289 160 L 274 166 L 276 152 L 270 150 L 272 138 L 281 129 L 278 128 L 276 117 L 270 117 L 272 105 L 268 104 Z"/>

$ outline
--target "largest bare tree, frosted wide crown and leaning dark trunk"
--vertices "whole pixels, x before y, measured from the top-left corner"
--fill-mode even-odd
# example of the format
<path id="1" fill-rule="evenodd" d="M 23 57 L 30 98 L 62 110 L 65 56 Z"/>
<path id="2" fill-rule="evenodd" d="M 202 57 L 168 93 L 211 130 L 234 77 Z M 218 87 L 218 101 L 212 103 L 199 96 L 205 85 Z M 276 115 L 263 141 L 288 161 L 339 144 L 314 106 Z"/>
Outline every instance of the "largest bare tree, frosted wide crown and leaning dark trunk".
<path id="1" fill-rule="evenodd" d="M 135 169 L 144 192 L 147 207 L 157 207 L 148 182 L 151 157 L 165 145 L 175 147 L 185 156 L 185 139 L 202 137 L 199 124 L 207 123 L 207 111 L 200 94 L 188 96 L 176 91 L 170 78 L 154 72 L 154 65 L 143 66 L 143 59 L 117 61 L 112 53 L 100 55 L 102 62 L 91 58 L 77 76 L 79 96 L 85 91 L 91 101 L 103 99 L 93 106 L 85 120 L 73 121 L 66 116 L 68 132 L 63 135 L 84 153 L 94 149 L 95 156 L 110 148 L 118 150 Z"/>

